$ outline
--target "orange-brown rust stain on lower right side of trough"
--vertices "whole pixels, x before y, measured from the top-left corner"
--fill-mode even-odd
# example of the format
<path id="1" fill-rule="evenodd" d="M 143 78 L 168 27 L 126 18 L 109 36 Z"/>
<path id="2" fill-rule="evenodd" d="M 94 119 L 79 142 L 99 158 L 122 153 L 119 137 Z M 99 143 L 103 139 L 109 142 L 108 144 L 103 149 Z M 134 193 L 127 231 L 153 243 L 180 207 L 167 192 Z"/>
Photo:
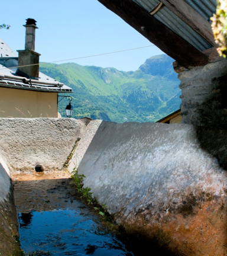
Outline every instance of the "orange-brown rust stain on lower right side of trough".
<path id="1" fill-rule="evenodd" d="M 164 248 L 167 254 L 161 255 L 227 255 L 226 195 L 190 193 L 180 206 L 172 206 L 163 215 L 160 212 L 145 210 L 134 216 L 118 216 L 117 221 L 129 234 L 138 233 Z"/>

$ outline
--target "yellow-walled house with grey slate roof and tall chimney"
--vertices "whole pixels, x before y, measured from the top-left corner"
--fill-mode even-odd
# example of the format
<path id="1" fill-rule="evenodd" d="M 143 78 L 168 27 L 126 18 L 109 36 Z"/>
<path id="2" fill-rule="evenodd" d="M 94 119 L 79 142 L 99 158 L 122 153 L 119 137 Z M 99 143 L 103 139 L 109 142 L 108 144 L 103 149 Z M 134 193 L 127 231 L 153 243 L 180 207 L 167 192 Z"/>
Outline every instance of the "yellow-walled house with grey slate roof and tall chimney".
<path id="1" fill-rule="evenodd" d="M 19 56 L 0 39 L 0 117 L 58 117 L 59 93 L 72 88 L 39 72 L 36 21 L 28 18 L 25 50 Z"/>

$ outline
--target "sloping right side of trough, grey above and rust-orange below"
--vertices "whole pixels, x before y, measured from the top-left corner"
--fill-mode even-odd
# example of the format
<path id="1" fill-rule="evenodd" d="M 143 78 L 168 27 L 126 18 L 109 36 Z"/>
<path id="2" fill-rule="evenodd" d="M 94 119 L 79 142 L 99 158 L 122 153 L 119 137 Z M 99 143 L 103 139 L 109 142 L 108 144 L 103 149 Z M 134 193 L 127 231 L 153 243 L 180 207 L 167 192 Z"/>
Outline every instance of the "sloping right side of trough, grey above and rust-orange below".
<path id="1" fill-rule="evenodd" d="M 116 222 L 169 253 L 227 255 L 226 145 L 226 130 L 102 122 L 78 169 Z"/>

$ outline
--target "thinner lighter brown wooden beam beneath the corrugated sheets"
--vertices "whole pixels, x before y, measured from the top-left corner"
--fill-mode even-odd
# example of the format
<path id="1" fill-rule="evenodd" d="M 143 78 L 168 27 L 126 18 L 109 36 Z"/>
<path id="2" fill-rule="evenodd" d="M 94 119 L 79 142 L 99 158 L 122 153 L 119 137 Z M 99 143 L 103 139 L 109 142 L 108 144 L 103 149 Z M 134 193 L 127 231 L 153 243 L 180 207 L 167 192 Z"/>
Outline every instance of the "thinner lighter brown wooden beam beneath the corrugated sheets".
<path id="1" fill-rule="evenodd" d="M 216 46 L 210 23 L 185 1 L 161 0 L 166 7 L 176 14 L 181 20 L 190 25 L 194 31 L 199 33 L 210 44 Z"/>

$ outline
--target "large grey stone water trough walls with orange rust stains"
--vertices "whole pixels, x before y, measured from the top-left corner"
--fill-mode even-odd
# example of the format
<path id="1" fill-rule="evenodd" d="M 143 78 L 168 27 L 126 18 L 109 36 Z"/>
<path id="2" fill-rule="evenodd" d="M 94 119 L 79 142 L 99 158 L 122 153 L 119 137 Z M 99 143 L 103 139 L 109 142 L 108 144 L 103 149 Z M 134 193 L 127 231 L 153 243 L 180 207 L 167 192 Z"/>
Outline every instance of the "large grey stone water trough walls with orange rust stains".
<path id="1" fill-rule="evenodd" d="M 1 255 L 20 255 L 10 176 L 38 164 L 46 171 L 61 170 L 64 164 L 70 172 L 78 169 L 115 223 L 132 239 L 134 234 L 147 239 L 151 251 L 227 255 L 226 130 L 190 124 L 0 119 L 0 133 Z"/>

